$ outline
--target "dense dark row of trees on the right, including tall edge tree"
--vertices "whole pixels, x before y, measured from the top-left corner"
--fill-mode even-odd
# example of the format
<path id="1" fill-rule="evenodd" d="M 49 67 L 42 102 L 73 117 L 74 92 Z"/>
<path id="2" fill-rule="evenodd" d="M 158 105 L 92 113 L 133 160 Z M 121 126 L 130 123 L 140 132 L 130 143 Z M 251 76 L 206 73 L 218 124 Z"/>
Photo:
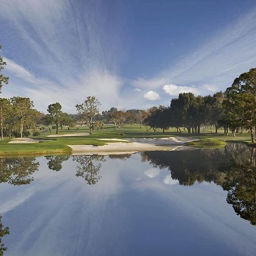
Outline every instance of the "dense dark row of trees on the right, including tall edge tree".
<path id="1" fill-rule="evenodd" d="M 220 127 L 224 134 L 248 130 L 251 142 L 255 142 L 256 125 L 256 68 L 242 73 L 225 92 L 217 92 L 213 96 L 195 96 L 193 93 L 180 93 L 171 100 L 170 106 L 152 107 L 144 124 L 150 129 L 164 130 L 174 127 L 188 134 L 199 134 L 206 126 L 215 126 L 215 133 Z"/>

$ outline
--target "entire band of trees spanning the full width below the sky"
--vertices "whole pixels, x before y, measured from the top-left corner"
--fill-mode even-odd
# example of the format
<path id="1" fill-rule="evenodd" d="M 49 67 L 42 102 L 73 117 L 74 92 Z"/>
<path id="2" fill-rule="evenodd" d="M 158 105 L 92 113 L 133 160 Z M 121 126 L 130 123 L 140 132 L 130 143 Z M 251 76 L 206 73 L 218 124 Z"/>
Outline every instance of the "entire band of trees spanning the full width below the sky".
<path id="1" fill-rule="evenodd" d="M 1 49 L 1 46 L 0 46 Z M 3 84 L 8 84 L 9 78 L 2 75 L 6 65 L 0 56 L 0 93 Z M 1 137 L 28 135 L 32 129 L 38 134 L 36 126 L 45 125 L 51 131 L 65 126 L 88 125 L 90 134 L 94 129 L 102 129 L 104 123 L 113 123 L 116 130 L 123 123 L 139 123 L 146 125 L 148 130 L 158 132 L 173 127 L 181 133 L 181 129 L 190 134 L 199 134 L 207 126 L 215 127 L 215 133 L 223 127 L 224 134 L 231 131 L 233 137 L 237 132 L 247 130 L 251 142 L 255 142 L 256 126 L 256 68 L 242 73 L 225 92 L 214 93 L 213 96 L 195 96 L 193 93 L 180 93 L 172 98 L 169 106 L 153 106 L 148 110 L 131 109 L 118 110 L 111 108 L 100 113 L 100 102 L 94 96 L 88 96 L 84 102 L 76 105 L 76 114 L 64 113 L 59 102 L 48 106 L 47 114 L 34 109 L 30 98 L 13 97 L 0 98 L 0 128 Z M 53 125 L 53 126 L 52 126 Z"/>

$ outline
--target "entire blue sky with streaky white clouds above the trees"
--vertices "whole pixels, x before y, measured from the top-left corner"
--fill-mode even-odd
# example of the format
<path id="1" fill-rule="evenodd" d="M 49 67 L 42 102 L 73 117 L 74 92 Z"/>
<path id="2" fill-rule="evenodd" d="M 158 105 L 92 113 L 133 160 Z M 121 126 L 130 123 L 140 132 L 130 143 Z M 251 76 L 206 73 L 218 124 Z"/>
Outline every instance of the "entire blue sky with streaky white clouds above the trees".
<path id="1" fill-rule="evenodd" d="M 0 0 L 1 97 L 101 110 L 213 94 L 256 67 L 255 0 Z"/>

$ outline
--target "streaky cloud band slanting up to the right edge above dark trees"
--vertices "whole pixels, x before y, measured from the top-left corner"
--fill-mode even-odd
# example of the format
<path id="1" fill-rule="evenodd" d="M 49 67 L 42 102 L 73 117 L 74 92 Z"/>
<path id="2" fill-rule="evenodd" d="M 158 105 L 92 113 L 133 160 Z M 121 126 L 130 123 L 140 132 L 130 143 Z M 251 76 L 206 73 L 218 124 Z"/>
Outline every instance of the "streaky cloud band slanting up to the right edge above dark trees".
<path id="1" fill-rule="evenodd" d="M 154 77 L 139 77 L 133 84 L 152 90 L 166 84 L 195 85 L 197 92 L 204 93 L 224 90 L 240 73 L 255 66 L 255 34 L 256 10 L 253 9 L 247 15 L 238 17 L 235 23 L 216 32 L 207 43 L 183 56 L 176 64 Z M 174 86 L 166 86 L 164 91 L 168 93 L 170 88 Z"/>

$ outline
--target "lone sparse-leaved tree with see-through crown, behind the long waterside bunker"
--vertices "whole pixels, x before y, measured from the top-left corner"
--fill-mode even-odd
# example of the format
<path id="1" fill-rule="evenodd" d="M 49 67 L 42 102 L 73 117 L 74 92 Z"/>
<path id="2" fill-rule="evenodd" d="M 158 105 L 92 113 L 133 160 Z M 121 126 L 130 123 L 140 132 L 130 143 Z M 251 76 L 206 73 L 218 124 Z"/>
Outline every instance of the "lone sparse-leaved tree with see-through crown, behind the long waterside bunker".
<path id="1" fill-rule="evenodd" d="M 90 134 L 94 130 L 94 117 L 100 114 L 98 106 L 100 106 L 100 101 L 94 96 L 88 96 L 84 103 L 76 105 L 77 114 L 80 115 L 80 119 L 84 123 L 89 123 Z"/>

